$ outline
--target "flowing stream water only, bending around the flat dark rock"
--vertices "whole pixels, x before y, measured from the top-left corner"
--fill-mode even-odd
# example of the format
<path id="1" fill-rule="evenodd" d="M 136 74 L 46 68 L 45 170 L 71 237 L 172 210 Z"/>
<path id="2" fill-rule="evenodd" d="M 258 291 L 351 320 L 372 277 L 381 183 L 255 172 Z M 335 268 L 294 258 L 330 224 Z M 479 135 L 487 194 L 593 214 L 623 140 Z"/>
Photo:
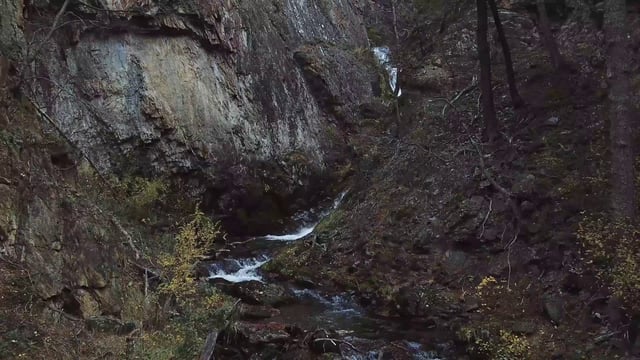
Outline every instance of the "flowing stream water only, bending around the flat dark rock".
<path id="1" fill-rule="evenodd" d="M 341 193 L 324 210 L 314 209 L 294 216 L 293 220 L 298 226 L 290 233 L 239 239 L 236 242 L 239 245 L 231 250 L 226 259 L 209 265 L 210 282 L 223 282 L 227 285 L 255 282 L 267 284 L 261 267 L 271 260 L 278 249 L 313 234 L 316 226 L 340 206 L 345 195 L 346 192 Z M 413 359 L 442 359 L 435 352 L 423 350 L 423 346 L 417 342 L 421 339 L 421 329 L 412 331 L 406 325 L 367 314 L 351 294 L 329 295 L 321 290 L 299 288 L 286 282 L 276 285 L 290 291 L 295 301 L 277 306 L 279 314 L 267 319 L 269 322 L 295 324 L 307 330 L 328 329 L 340 333 L 345 341 L 353 343 L 400 341 Z M 381 354 L 380 351 L 371 350 L 367 353 L 343 353 L 343 357 L 354 360 L 378 359 Z"/>

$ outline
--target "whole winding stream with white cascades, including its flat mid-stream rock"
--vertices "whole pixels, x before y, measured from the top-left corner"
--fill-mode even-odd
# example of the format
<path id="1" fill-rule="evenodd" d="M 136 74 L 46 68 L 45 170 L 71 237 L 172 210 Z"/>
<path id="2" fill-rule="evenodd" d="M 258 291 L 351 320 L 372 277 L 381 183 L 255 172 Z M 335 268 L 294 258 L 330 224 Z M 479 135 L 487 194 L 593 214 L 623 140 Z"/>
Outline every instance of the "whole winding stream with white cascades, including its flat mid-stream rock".
<path id="1" fill-rule="evenodd" d="M 321 289 L 269 283 L 261 273 L 260 268 L 271 260 L 275 251 L 313 234 L 322 219 L 340 206 L 345 195 L 346 192 L 341 193 L 323 211 L 310 210 L 295 216 L 298 226 L 289 234 L 240 239 L 226 259 L 209 265 L 209 282 L 242 299 L 249 309 L 248 317 L 258 324 L 292 324 L 316 332 L 322 329 L 327 334 L 324 337 L 340 339 L 340 344 L 348 346 L 339 346 L 339 351 L 327 352 L 339 352 L 344 359 L 380 359 L 382 353 L 387 351 L 381 349 L 386 349 L 390 342 L 404 349 L 406 356 L 409 356 L 400 355 L 391 359 L 440 359 L 434 352 L 423 350 L 421 344 L 409 341 L 419 338 L 412 336 L 419 332 L 418 329 L 412 332 L 403 324 L 367 314 L 352 294 L 327 294 Z"/>

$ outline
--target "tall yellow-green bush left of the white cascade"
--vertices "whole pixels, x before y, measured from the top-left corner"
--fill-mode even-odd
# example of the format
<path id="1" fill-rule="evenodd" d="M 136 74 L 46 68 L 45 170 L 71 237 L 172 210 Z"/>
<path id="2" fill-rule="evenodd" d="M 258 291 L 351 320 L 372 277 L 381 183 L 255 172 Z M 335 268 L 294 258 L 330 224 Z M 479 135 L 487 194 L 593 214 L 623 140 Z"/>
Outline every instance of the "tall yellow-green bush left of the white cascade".
<path id="1" fill-rule="evenodd" d="M 221 236 L 220 224 L 198 209 L 180 228 L 173 252 L 160 259 L 167 280 L 151 297 L 158 308 L 161 297 L 175 299 L 179 315 L 159 330 L 145 333 L 135 345 L 134 359 L 194 359 L 207 334 L 230 323 L 233 299 L 199 283 L 194 274 L 195 265 Z M 137 302 L 140 303 L 139 294 Z"/>

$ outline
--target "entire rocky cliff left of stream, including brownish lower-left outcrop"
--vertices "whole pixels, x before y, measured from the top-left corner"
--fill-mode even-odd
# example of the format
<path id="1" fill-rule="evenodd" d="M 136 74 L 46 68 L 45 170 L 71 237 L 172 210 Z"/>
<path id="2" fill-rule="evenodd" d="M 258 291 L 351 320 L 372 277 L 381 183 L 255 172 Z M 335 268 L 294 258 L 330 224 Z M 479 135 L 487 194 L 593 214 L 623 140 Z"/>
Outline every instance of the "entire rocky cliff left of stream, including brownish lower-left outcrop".
<path id="1" fill-rule="evenodd" d="M 359 1 L 0 6 L 0 288 L 116 331 L 149 278 L 137 248 L 175 230 L 149 226 L 167 217 L 147 206 L 157 191 L 130 216 L 120 185 L 168 183 L 180 191 L 164 204 L 202 201 L 228 230 L 263 231 L 329 185 L 377 81 Z"/>

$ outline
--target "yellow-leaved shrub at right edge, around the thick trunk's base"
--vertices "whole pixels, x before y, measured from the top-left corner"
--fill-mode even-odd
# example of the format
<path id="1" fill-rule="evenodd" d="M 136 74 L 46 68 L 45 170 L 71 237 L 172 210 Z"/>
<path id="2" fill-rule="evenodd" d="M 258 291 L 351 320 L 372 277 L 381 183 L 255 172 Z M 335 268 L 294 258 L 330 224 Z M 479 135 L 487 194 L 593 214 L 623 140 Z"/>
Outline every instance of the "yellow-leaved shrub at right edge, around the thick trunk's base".
<path id="1" fill-rule="evenodd" d="M 585 216 L 577 235 L 587 261 L 596 267 L 599 277 L 632 311 L 640 311 L 640 229 L 600 214 Z"/>

